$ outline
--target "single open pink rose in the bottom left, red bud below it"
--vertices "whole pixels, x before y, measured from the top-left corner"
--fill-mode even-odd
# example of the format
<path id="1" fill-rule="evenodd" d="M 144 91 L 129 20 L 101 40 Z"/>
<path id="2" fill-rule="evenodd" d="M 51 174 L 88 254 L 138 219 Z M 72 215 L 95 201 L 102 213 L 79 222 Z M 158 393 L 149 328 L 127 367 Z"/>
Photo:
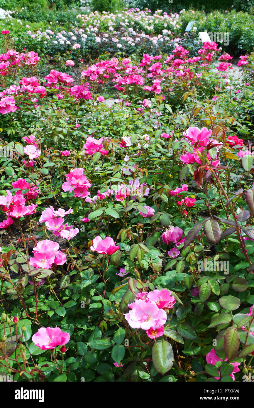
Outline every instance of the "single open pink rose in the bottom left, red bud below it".
<path id="1" fill-rule="evenodd" d="M 69 340 L 69 333 L 62 332 L 60 327 L 40 327 L 32 337 L 35 346 L 40 347 L 41 350 L 64 346 Z"/>

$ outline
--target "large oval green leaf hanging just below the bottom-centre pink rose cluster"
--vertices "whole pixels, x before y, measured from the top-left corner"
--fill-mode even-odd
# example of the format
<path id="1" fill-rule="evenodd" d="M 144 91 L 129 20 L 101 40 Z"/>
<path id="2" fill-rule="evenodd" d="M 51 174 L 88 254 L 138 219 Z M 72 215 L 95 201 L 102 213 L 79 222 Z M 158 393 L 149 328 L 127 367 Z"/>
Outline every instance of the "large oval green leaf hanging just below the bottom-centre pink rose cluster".
<path id="1" fill-rule="evenodd" d="M 160 374 L 167 373 L 173 366 L 173 349 L 165 340 L 157 340 L 152 347 L 152 363 Z"/>

